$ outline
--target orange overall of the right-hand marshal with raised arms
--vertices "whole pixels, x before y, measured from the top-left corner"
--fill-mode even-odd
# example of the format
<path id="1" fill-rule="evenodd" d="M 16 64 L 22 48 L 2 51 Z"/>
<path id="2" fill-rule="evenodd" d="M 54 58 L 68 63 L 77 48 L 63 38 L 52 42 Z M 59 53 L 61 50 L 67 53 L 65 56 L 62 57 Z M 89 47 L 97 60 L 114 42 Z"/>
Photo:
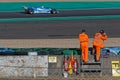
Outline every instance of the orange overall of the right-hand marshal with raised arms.
<path id="1" fill-rule="evenodd" d="M 93 47 L 96 51 L 96 61 L 100 60 L 100 49 L 104 47 L 104 40 L 106 40 L 107 38 L 107 35 L 102 35 L 101 33 L 96 33 L 94 36 Z"/>

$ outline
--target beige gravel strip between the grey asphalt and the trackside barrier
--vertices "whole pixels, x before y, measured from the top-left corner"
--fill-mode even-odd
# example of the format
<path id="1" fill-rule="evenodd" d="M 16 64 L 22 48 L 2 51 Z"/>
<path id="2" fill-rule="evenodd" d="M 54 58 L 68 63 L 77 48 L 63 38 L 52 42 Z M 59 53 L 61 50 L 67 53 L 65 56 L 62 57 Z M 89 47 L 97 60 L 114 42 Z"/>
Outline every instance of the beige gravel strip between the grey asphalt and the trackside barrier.
<path id="1" fill-rule="evenodd" d="M 109 38 L 105 47 L 120 46 L 120 38 Z M 1 39 L 0 47 L 10 48 L 79 48 L 77 39 Z M 92 47 L 92 39 L 89 41 Z"/>

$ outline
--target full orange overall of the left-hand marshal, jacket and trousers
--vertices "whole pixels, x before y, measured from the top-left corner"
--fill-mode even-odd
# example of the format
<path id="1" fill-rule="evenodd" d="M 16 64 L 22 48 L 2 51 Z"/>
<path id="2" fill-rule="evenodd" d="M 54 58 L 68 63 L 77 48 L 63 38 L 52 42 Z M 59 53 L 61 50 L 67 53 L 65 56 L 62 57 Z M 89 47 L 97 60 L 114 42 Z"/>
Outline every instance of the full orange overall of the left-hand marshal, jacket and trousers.
<path id="1" fill-rule="evenodd" d="M 82 60 L 88 62 L 88 35 L 86 33 L 79 34 L 80 47 L 82 49 Z"/>

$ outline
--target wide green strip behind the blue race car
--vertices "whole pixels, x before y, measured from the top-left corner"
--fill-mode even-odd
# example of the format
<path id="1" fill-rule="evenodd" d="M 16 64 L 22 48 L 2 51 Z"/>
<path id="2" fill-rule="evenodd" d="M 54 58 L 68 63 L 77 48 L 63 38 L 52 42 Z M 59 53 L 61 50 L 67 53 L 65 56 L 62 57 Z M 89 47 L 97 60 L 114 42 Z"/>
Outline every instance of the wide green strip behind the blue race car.
<path id="1" fill-rule="evenodd" d="M 120 2 L 1 2 L 0 11 L 23 11 L 22 6 L 69 9 L 120 8 Z"/>

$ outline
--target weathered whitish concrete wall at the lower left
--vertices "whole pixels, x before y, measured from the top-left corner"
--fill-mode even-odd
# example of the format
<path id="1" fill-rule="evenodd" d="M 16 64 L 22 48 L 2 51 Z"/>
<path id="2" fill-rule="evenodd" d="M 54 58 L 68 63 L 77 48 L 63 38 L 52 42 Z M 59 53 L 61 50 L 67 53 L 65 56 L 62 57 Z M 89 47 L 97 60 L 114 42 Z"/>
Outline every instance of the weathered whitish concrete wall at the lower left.
<path id="1" fill-rule="evenodd" d="M 48 56 L 0 56 L 0 78 L 48 76 Z"/>

